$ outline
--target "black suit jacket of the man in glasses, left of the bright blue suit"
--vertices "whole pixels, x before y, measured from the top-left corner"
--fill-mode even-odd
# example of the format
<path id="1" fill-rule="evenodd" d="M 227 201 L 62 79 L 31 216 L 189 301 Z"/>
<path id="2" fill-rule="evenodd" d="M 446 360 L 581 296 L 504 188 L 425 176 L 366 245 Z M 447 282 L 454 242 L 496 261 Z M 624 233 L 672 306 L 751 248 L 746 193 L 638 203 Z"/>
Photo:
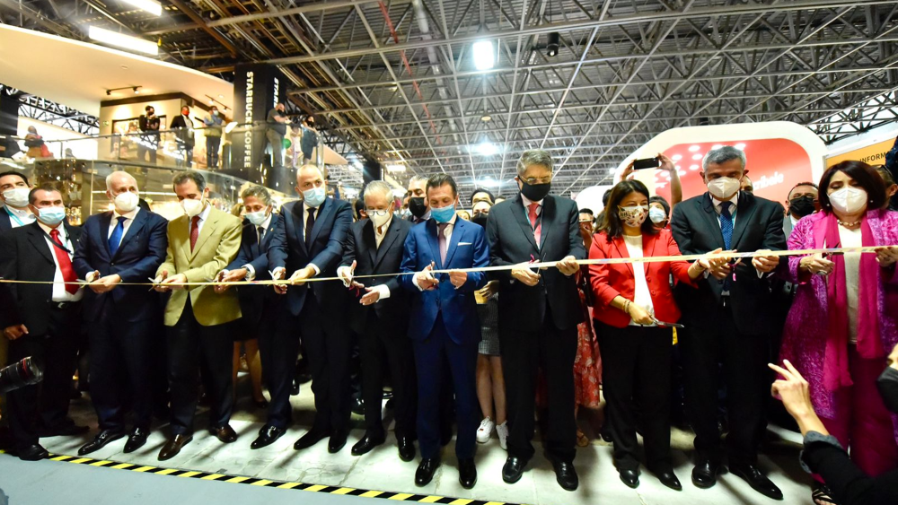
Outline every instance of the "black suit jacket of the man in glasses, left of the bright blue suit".
<path id="1" fill-rule="evenodd" d="M 354 222 L 349 230 L 346 253 L 340 266 L 351 266 L 356 261 L 356 275 L 395 274 L 402 263 L 405 239 L 412 228 L 411 222 L 393 217 L 390 228 L 377 247 L 374 238 L 374 223 L 370 219 Z M 385 284 L 390 289 L 390 298 L 378 300 L 374 305 L 362 305 L 358 299 L 349 303 L 349 326 L 361 335 L 365 330 L 368 313 L 374 310 L 382 324 L 387 325 L 391 335 L 406 336 L 409 325 L 409 293 L 402 289 L 398 275 L 358 279 L 365 286 Z M 363 293 L 364 294 L 364 293 Z"/>

